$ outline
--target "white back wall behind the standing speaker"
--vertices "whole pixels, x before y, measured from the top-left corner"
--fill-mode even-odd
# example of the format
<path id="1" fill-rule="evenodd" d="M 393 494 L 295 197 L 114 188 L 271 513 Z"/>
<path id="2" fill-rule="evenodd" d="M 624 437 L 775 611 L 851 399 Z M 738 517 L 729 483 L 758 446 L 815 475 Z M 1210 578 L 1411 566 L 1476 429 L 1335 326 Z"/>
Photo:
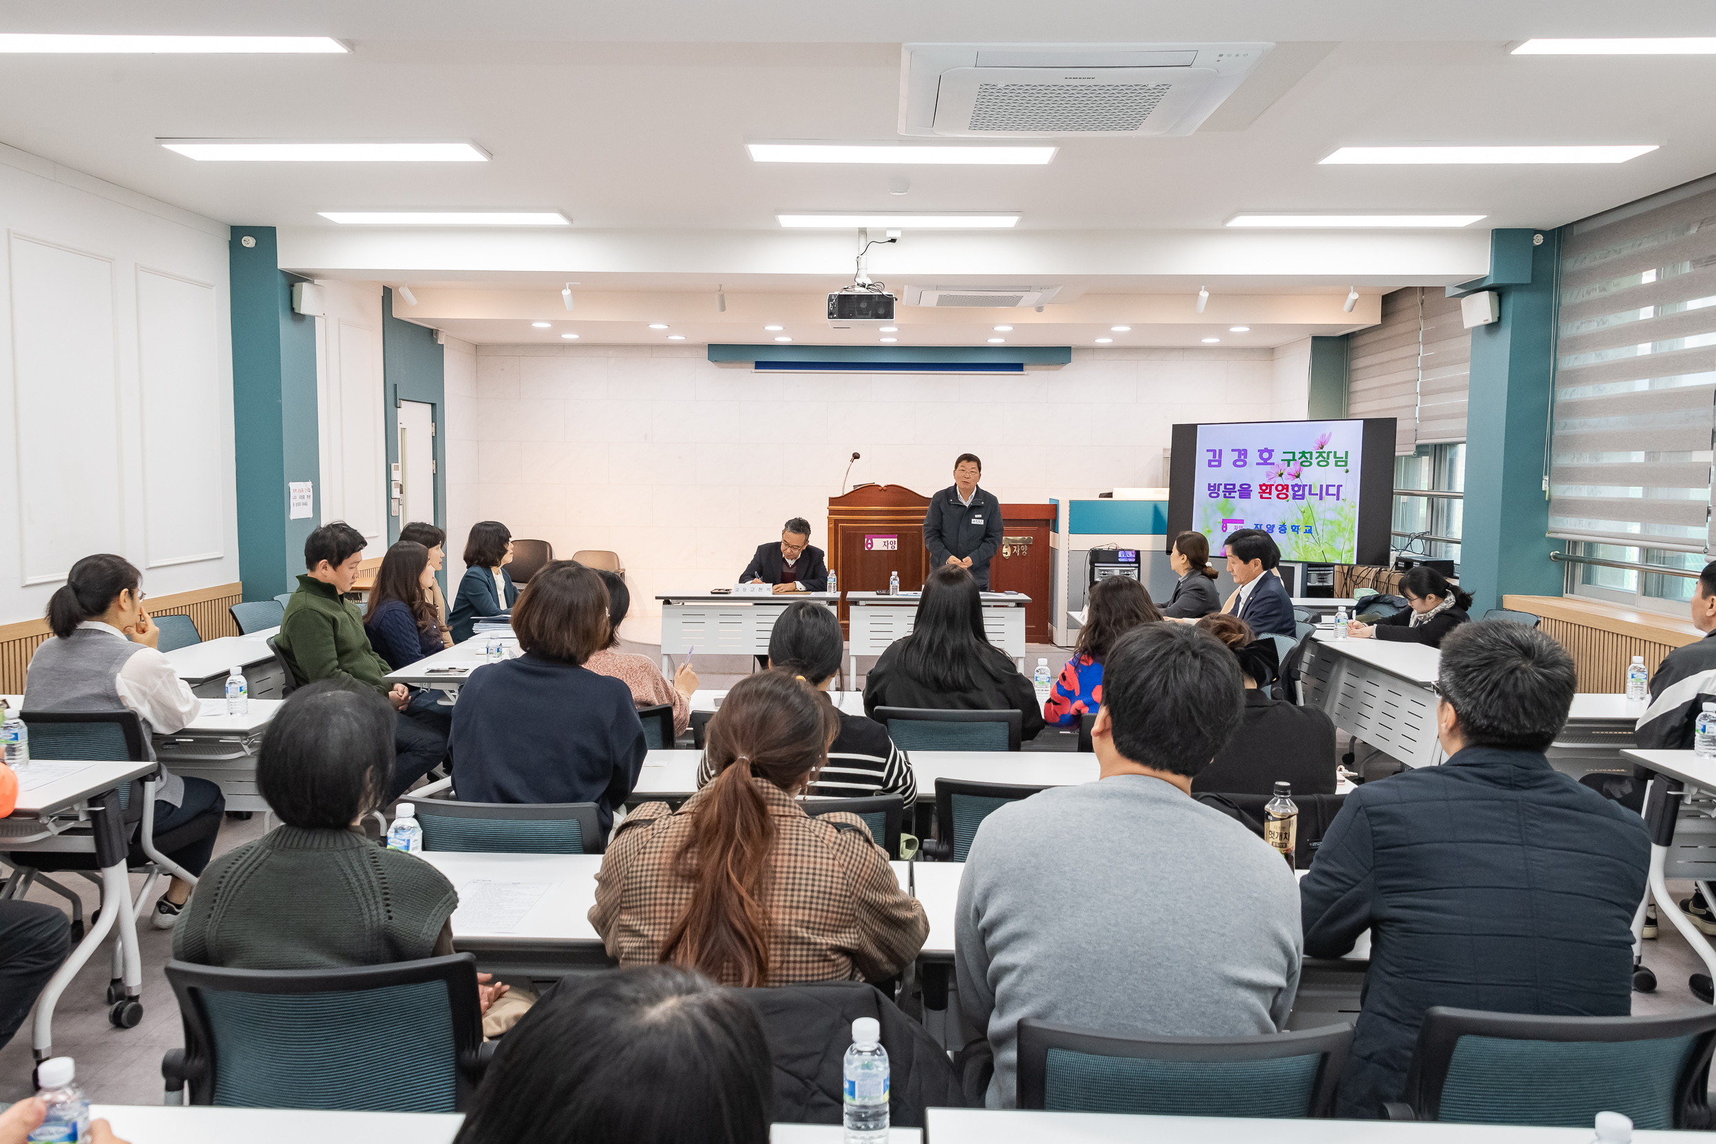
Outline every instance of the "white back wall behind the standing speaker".
<path id="1" fill-rule="evenodd" d="M 855 451 L 851 482 L 921 494 L 952 484 L 963 451 L 1009 503 L 1163 484 L 1174 422 L 1304 417 L 1309 343 L 1296 345 L 1074 350 L 1059 370 L 947 377 L 753 374 L 710 365 L 702 346 L 468 357 L 450 343 L 450 576 L 470 525 L 492 518 L 556 556 L 613 549 L 633 617 L 657 616 L 656 592 L 733 583 L 789 516 L 825 547 Z"/>

